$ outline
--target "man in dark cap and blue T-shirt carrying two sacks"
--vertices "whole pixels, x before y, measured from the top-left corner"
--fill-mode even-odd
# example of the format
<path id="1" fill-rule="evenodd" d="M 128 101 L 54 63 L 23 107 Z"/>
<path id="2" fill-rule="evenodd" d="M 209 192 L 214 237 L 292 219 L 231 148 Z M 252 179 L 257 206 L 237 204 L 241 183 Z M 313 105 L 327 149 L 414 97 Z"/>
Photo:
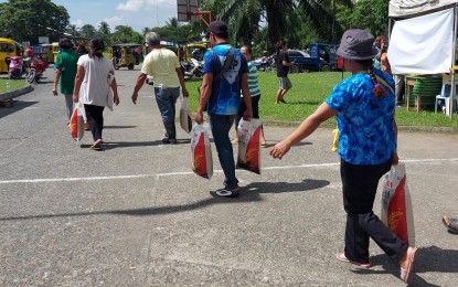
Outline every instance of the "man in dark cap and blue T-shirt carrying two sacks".
<path id="1" fill-rule="evenodd" d="M 222 71 L 227 55 L 233 50 L 227 43 L 228 32 L 224 22 L 213 21 L 210 23 L 206 38 L 213 49 L 204 55 L 204 76 L 195 123 L 202 125 L 203 111 L 207 106 L 213 140 L 226 178 L 224 188 L 217 190 L 216 194 L 236 198 L 239 187 L 235 177 L 234 155 L 228 132 L 238 111 L 241 89 L 247 107 L 244 118 L 251 119 L 253 117 L 248 89 L 248 65 L 245 56 L 238 50 L 234 50 L 232 63 L 226 71 Z M 221 76 L 217 76 L 220 72 L 222 72 Z"/>

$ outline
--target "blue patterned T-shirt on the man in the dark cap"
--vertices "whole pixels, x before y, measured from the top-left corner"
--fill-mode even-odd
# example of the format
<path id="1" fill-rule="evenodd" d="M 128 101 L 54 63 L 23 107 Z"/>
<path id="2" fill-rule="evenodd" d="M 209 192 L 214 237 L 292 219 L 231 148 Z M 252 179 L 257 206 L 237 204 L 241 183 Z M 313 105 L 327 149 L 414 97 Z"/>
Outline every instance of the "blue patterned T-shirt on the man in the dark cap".
<path id="1" fill-rule="evenodd" d="M 230 44 L 215 45 L 204 54 L 203 73 L 212 73 L 213 77 L 223 68 L 224 60 L 231 50 Z M 216 115 L 236 115 L 241 100 L 241 77 L 248 73 L 245 56 L 234 50 L 232 66 L 223 73 L 219 81 L 213 82 L 209 98 L 207 113 Z"/>

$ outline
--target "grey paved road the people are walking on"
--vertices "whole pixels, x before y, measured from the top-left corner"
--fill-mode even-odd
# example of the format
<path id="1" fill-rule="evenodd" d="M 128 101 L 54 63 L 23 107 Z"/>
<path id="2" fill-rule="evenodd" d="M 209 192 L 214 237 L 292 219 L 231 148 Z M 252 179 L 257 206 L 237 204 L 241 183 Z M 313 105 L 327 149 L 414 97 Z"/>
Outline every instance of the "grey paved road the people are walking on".
<path id="1" fill-rule="evenodd" d="M 219 163 L 211 180 L 194 176 L 182 130 L 180 145 L 161 145 L 152 87 L 130 103 L 138 67 L 117 72 L 121 105 L 105 111 L 102 152 L 71 139 L 51 72 L 0 108 L 1 286 L 404 286 L 374 243 L 369 270 L 334 259 L 345 217 L 331 130 L 283 160 L 263 149 L 262 176 L 237 171 L 242 196 L 214 198 Z M 273 145 L 292 129 L 265 130 Z M 458 216 L 457 142 L 400 134 L 419 247 L 412 286 L 458 284 L 458 236 L 440 223 Z"/>

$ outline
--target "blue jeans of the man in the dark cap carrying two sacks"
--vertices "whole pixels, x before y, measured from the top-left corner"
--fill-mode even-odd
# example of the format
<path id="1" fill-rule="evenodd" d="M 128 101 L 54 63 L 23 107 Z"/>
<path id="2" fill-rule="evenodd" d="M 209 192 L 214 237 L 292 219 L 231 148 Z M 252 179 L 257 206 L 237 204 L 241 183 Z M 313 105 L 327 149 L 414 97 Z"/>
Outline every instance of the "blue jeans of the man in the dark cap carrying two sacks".
<path id="1" fill-rule="evenodd" d="M 228 188 L 237 187 L 238 180 L 235 177 L 234 152 L 228 137 L 231 127 L 234 124 L 235 115 L 209 114 L 209 118 L 221 168 L 226 177 L 226 185 Z"/>

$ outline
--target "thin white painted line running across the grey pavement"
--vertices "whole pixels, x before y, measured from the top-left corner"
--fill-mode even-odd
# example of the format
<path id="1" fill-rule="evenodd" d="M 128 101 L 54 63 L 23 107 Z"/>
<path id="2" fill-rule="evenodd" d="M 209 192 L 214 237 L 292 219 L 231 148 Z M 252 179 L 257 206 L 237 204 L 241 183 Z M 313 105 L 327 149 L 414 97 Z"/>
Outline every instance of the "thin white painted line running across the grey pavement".
<path id="1" fill-rule="evenodd" d="M 428 162 L 454 162 L 458 161 L 458 158 L 451 159 L 407 159 L 402 162 L 408 163 L 428 163 Z M 266 167 L 262 170 L 280 170 L 280 169 L 299 169 L 299 168 L 321 168 L 321 167 L 338 167 L 339 162 L 331 163 L 313 163 L 313 164 L 299 164 L 299 166 L 284 166 L 284 167 Z M 213 173 L 221 173 L 222 170 L 214 170 Z M 90 177 L 90 178 L 56 178 L 56 179 L 29 179 L 29 180 L 2 180 L 0 184 L 13 184 L 13 183 L 44 183 L 44 182 L 64 182 L 64 181 L 93 181 L 93 180 L 119 180 L 119 179 L 139 179 L 139 178 L 156 178 L 161 177 L 175 177 L 175 176 L 189 176 L 194 174 L 192 171 L 177 171 L 156 174 L 136 174 L 136 176 L 111 176 L 111 177 Z"/>

